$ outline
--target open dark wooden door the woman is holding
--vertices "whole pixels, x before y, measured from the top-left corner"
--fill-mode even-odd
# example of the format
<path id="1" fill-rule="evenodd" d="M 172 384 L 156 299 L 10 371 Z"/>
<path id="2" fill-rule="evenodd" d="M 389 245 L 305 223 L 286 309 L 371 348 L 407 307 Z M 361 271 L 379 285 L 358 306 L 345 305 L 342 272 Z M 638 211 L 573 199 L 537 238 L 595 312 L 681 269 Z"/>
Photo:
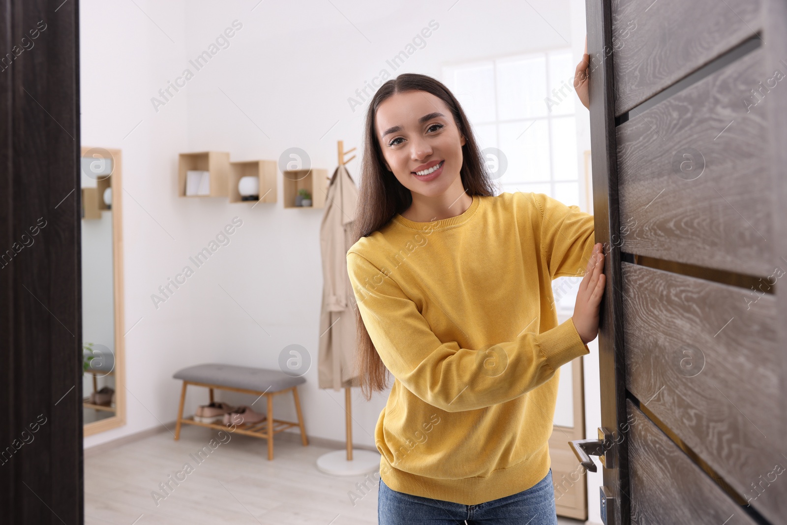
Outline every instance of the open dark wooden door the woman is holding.
<path id="1" fill-rule="evenodd" d="M 604 521 L 785 523 L 787 5 L 586 6 Z"/>

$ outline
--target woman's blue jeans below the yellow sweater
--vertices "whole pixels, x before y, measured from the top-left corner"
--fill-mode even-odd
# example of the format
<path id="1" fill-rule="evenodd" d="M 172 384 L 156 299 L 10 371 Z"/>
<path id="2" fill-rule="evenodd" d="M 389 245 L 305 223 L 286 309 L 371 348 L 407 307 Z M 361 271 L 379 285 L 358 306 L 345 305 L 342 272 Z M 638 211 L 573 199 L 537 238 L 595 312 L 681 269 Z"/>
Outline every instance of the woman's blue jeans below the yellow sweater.
<path id="1" fill-rule="evenodd" d="M 462 505 L 391 489 L 380 479 L 379 525 L 557 525 L 552 469 L 530 489 L 478 505 Z"/>

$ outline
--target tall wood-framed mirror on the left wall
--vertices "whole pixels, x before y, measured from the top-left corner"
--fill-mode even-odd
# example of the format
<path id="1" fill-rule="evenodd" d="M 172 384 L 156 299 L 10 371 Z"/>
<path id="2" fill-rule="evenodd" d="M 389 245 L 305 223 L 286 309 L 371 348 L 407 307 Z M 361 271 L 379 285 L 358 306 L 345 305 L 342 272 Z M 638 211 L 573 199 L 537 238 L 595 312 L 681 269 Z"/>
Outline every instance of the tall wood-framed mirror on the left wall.
<path id="1" fill-rule="evenodd" d="M 120 150 L 82 147 L 84 435 L 126 423 Z"/>

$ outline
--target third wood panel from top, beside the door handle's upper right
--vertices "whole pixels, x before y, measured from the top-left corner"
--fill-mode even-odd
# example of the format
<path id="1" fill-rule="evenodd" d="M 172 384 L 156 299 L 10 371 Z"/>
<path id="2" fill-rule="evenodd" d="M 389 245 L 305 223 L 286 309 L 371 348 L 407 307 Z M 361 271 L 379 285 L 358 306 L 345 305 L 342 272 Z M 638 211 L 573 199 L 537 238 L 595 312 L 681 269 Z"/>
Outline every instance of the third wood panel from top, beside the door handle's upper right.
<path id="1" fill-rule="evenodd" d="M 751 485 L 785 463 L 774 294 L 621 270 L 628 390 L 764 516 L 787 516 L 787 472 L 761 495 Z"/>

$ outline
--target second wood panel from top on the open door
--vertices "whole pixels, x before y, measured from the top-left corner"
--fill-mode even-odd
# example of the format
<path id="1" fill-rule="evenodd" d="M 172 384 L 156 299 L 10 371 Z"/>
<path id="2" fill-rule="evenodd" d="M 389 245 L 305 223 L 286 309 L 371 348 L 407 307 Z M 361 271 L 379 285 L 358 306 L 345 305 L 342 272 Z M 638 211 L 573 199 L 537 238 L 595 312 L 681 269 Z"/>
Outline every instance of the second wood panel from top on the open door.
<path id="1" fill-rule="evenodd" d="M 774 269 L 762 47 L 616 128 L 621 250 L 747 275 Z M 615 238 L 613 238 L 615 242 Z"/>

